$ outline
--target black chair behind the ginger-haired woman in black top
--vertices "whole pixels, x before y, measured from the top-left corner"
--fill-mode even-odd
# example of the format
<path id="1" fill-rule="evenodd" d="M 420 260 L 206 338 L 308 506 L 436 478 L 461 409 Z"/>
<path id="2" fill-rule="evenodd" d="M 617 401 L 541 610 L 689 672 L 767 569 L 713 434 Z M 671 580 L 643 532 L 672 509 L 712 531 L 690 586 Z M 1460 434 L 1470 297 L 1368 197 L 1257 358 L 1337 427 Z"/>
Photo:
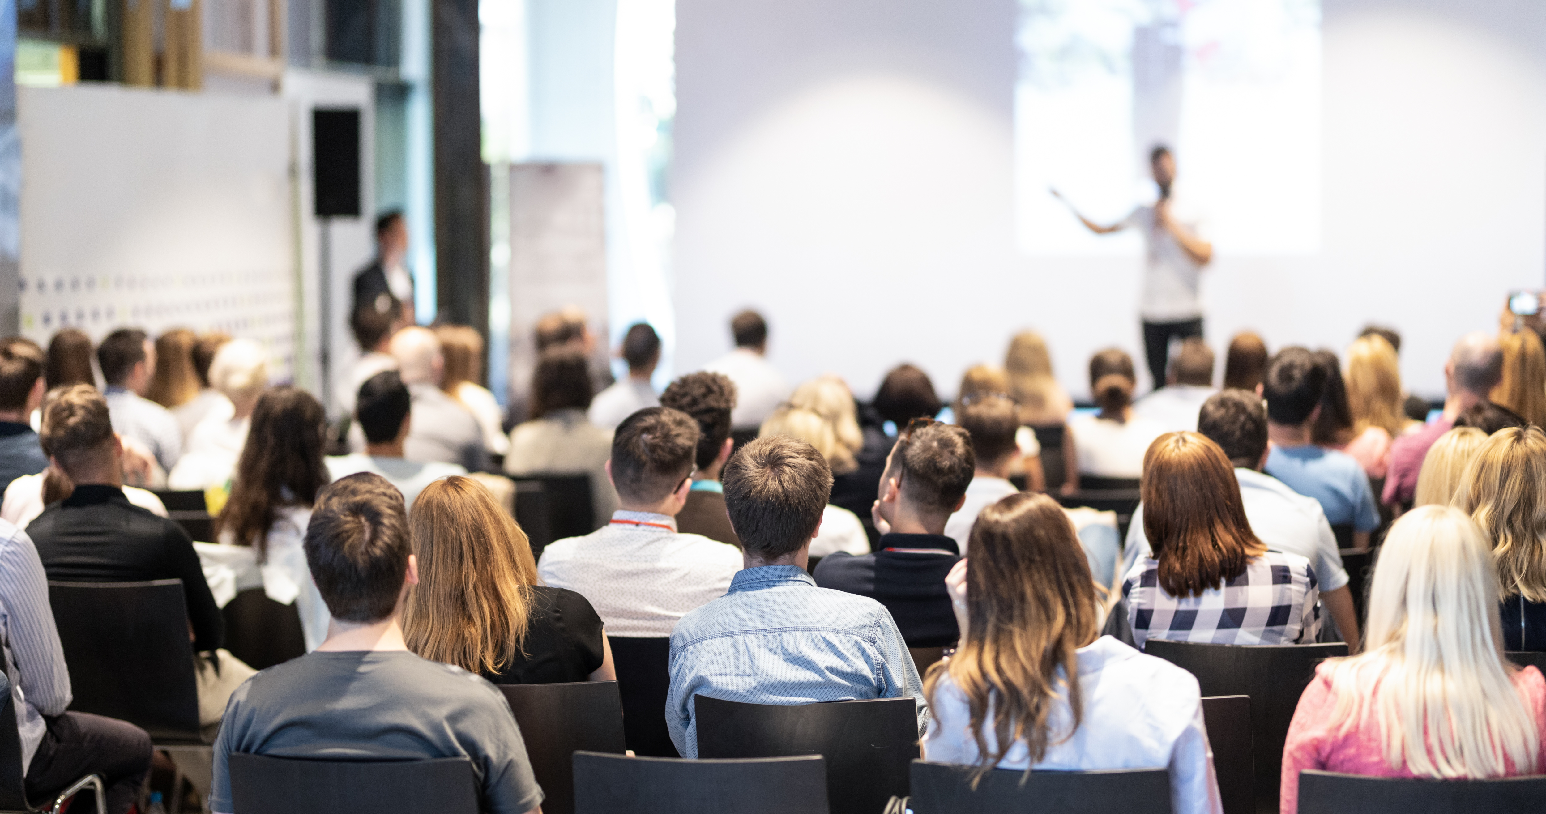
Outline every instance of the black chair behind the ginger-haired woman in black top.
<path id="1" fill-rule="evenodd" d="M 547 792 L 543 811 L 572 814 L 574 754 L 623 754 L 623 701 L 617 681 L 499 684 L 499 690 L 521 726 L 536 785 Z"/>

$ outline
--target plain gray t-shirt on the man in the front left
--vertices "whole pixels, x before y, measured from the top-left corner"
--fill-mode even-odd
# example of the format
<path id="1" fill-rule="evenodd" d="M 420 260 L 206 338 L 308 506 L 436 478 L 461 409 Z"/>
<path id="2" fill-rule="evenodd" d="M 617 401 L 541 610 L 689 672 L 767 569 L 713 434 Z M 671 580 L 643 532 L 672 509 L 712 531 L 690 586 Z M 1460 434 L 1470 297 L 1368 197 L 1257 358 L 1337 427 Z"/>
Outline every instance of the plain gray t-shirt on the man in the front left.
<path id="1" fill-rule="evenodd" d="M 226 755 L 332 760 L 465 757 L 482 811 L 543 802 L 504 695 L 459 667 L 404 650 L 314 652 L 269 667 L 230 697 L 215 740 L 212 811 L 235 811 Z"/>

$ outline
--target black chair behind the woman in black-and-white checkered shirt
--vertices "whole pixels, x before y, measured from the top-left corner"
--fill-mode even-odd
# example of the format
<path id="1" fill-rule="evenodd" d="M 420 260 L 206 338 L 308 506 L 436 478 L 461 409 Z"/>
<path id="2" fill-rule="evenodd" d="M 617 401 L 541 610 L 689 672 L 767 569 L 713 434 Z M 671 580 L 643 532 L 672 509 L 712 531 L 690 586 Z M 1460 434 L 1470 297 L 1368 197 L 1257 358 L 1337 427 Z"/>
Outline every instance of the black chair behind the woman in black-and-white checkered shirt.
<path id="1" fill-rule="evenodd" d="M 1294 707 L 1316 673 L 1316 664 L 1348 655 L 1348 646 L 1282 644 L 1240 647 L 1149 639 L 1144 652 L 1197 677 L 1203 695 L 1251 697 L 1251 743 L 1255 752 L 1257 811 L 1277 811 L 1283 741 Z"/>

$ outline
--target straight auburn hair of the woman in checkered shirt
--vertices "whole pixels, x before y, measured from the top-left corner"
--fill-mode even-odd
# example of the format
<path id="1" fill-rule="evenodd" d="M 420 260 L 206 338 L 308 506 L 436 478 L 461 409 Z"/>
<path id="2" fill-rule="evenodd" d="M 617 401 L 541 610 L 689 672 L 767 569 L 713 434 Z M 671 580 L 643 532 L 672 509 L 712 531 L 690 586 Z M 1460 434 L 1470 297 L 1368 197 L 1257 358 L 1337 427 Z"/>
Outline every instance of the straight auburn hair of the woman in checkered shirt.
<path id="1" fill-rule="evenodd" d="M 1240 482 L 1224 451 L 1198 432 L 1166 432 L 1149 445 L 1142 477 L 1144 534 L 1170 596 L 1201 596 L 1245 573 L 1266 550 L 1251 531 Z"/>

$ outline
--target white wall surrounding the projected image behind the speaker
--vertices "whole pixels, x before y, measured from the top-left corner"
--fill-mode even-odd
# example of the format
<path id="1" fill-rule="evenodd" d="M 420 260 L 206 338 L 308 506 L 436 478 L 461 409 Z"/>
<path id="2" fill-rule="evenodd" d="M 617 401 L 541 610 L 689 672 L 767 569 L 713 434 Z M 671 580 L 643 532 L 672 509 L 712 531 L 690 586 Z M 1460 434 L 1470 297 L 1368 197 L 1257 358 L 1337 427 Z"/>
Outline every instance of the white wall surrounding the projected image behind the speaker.
<path id="1" fill-rule="evenodd" d="M 1016 8 L 679 0 L 679 371 L 724 352 L 744 306 L 792 378 L 861 395 L 903 360 L 954 392 L 1028 326 L 1076 394 L 1098 348 L 1139 357 L 1139 258 L 1016 252 Z M 1328 2 L 1322 250 L 1220 252 L 1215 348 L 1252 327 L 1340 351 L 1377 321 L 1405 337 L 1407 385 L 1441 392 L 1449 344 L 1546 281 L 1541 42 L 1532 0 Z"/>

